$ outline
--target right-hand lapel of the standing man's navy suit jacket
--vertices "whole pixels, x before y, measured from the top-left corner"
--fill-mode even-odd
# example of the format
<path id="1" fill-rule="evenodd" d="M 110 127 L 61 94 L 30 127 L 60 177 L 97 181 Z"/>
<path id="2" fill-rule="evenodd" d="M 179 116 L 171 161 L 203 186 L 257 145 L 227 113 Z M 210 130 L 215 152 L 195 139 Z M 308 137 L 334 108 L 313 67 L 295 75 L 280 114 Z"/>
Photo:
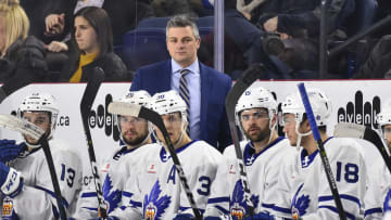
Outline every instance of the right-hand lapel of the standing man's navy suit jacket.
<path id="1" fill-rule="evenodd" d="M 206 134 L 207 134 L 207 127 L 206 127 L 206 121 L 207 121 L 207 106 L 209 106 L 209 95 L 213 95 L 210 94 L 210 88 L 212 88 L 212 81 L 210 79 L 210 76 L 206 72 L 205 66 L 200 63 L 200 75 L 201 75 L 201 139 L 206 139 Z"/>

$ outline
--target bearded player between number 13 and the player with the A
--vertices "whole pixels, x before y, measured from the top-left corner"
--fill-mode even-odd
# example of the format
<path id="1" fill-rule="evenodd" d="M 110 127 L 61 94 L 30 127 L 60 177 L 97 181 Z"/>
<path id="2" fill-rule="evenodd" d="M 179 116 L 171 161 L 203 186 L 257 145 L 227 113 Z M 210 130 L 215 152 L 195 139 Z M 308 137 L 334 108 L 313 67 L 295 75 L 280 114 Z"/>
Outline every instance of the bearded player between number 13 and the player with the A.
<path id="1" fill-rule="evenodd" d="M 150 101 L 150 94 L 144 91 L 128 92 L 118 102 L 131 103 L 147 107 Z M 113 113 L 112 113 L 113 114 Z M 122 116 L 114 114 L 114 125 L 121 132 L 119 148 L 116 150 L 109 159 L 103 164 L 101 171 L 106 173 L 102 192 L 104 200 L 108 205 L 108 213 L 122 216 L 124 213 L 122 207 L 128 204 L 130 193 L 125 189 L 126 181 L 131 178 L 131 168 L 139 157 L 136 156 L 138 148 L 144 144 L 151 143 L 150 125 L 143 118 L 131 116 Z M 79 218 L 97 218 L 98 202 L 94 193 L 84 193 L 81 197 L 88 197 L 86 203 L 81 205 L 83 211 Z M 88 202 L 87 202 L 88 200 Z M 86 204 L 88 204 L 86 206 Z"/>

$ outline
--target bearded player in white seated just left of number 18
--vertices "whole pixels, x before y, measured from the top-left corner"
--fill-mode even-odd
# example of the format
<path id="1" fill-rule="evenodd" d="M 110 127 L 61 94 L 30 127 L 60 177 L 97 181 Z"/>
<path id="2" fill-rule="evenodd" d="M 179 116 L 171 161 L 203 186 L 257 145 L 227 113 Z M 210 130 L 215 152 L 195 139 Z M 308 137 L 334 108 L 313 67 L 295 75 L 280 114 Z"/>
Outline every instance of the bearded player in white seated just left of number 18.
<path id="1" fill-rule="evenodd" d="M 277 102 L 273 94 L 262 88 L 252 87 L 244 91 L 236 105 L 236 122 L 247 139 L 240 143 L 243 152 L 244 166 L 248 173 L 251 198 L 254 204 L 254 215 L 249 215 L 240 168 L 238 166 L 235 146 L 224 151 L 224 167 L 219 172 L 227 170 L 227 178 L 220 179 L 218 185 L 226 189 L 229 196 L 228 210 L 216 207 L 217 216 L 230 215 L 232 219 L 263 219 L 268 218 L 273 210 L 276 195 L 276 182 L 282 156 L 288 154 L 289 142 L 280 138 L 275 130 L 277 125 Z M 209 205 L 209 209 L 213 209 Z M 211 210 L 207 210 L 211 212 Z M 214 215 L 211 215 L 214 216 Z"/>

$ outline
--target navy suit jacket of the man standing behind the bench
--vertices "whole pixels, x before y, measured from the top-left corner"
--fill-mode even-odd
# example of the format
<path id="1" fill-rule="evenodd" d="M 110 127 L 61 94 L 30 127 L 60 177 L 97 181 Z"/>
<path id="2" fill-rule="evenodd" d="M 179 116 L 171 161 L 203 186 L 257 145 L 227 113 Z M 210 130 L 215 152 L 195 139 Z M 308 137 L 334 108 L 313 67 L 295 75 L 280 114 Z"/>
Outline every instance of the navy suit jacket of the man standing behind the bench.
<path id="1" fill-rule="evenodd" d="M 231 79 L 200 63 L 201 75 L 201 140 L 223 151 L 231 144 L 225 99 L 232 86 Z M 147 90 L 151 95 L 171 90 L 171 61 L 163 61 L 139 68 L 130 90 Z"/>

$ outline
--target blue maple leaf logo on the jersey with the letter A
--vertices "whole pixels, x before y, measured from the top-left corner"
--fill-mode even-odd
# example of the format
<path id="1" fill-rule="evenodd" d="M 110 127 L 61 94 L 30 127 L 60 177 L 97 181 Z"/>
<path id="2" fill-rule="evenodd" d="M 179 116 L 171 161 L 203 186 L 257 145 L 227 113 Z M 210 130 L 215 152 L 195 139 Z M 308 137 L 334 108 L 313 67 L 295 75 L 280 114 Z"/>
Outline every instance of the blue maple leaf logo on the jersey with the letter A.
<path id="1" fill-rule="evenodd" d="M 171 203 L 171 196 L 160 196 L 162 190 L 159 180 L 153 185 L 150 195 L 144 196 L 143 213 L 146 220 L 160 220 Z"/>

